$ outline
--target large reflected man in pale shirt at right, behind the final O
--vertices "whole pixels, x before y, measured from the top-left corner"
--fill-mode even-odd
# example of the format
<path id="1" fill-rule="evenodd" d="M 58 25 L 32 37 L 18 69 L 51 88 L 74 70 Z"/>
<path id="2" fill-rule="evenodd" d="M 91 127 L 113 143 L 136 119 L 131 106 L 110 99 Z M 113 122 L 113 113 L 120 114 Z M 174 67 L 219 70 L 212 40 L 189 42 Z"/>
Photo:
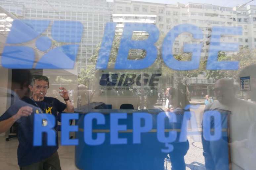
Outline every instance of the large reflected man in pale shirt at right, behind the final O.
<path id="1" fill-rule="evenodd" d="M 214 85 L 214 93 L 217 101 L 209 103 L 205 106 L 205 110 L 222 109 L 231 111 L 230 115 L 230 142 L 231 144 L 231 163 L 233 169 L 244 169 L 245 155 L 241 155 L 237 147 L 234 147 L 235 141 L 242 141 L 247 138 L 246 134 L 249 130 L 249 125 L 254 122 L 253 115 L 255 114 L 256 105 L 241 99 L 235 98 L 235 87 L 232 79 L 219 79 Z M 224 127 L 224 125 L 222 125 Z M 221 146 L 223 143 L 215 141 L 206 141 L 202 138 L 203 155 L 205 157 L 205 167 L 210 170 L 227 169 L 229 165 L 225 164 L 224 159 L 220 155 L 227 155 L 226 150 Z M 227 144 L 227 143 L 226 143 Z M 228 144 L 227 144 L 228 145 Z M 240 167 L 240 168 L 239 168 Z"/>

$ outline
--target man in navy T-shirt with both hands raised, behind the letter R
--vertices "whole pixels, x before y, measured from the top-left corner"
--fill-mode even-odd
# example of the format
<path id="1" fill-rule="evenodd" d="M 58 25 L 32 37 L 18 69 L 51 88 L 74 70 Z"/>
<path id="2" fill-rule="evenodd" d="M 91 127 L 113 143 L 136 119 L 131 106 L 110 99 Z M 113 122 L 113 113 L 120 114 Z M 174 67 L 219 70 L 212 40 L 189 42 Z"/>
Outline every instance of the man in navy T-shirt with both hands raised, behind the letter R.
<path id="1" fill-rule="evenodd" d="M 45 97 L 49 88 L 49 80 L 46 76 L 35 76 L 28 86 L 32 92 L 29 98 L 17 100 L 0 117 L 0 132 L 7 131 L 15 122 L 19 123 L 19 146 L 18 164 L 21 170 L 60 170 L 60 159 L 58 156 L 58 142 L 56 146 L 47 146 L 47 136 L 43 133 L 43 145 L 33 146 L 33 114 L 52 114 L 56 117 L 62 112 L 72 113 L 73 104 L 69 101 L 68 92 L 60 87 L 60 95 L 65 104 L 56 98 Z M 42 122 L 42 126 L 47 126 L 47 121 Z M 56 132 L 58 141 L 58 133 Z"/>

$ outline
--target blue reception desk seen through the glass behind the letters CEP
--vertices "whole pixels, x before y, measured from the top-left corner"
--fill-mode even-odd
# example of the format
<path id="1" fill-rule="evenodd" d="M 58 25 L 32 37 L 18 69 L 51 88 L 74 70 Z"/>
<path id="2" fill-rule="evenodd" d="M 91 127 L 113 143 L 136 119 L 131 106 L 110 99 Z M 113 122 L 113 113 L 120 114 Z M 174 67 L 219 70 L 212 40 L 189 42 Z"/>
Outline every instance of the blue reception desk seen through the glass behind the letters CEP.
<path id="1" fill-rule="evenodd" d="M 90 109 L 89 109 L 90 110 Z M 84 116 L 88 114 L 87 108 L 76 109 L 79 119 L 76 120 L 79 131 L 76 138 L 79 144 L 75 146 L 75 164 L 79 169 L 85 170 L 156 170 L 163 168 L 166 153 L 164 143 L 157 140 L 156 117 L 161 110 L 115 110 L 94 109 L 90 112 L 102 113 L 105 125 L 96 125 L 93 121 L 93 138 L 97 133 L 105 133 L 105 141 L 101 145 L 87 145 L 84 142 Z M 152 115 L 152 130 L 141 134 L 141 143 L 133 144 L 133 113 L 146 112 Z M 110 113 L 127 113 L 127 119 L 120 119 L 119 125 L 126 125 L 127 130 L 118 133 L 119 138 L 127 138 L 127 144 L 110 144 Z M 142 123 L 143 125 L 143 123 Z"/>

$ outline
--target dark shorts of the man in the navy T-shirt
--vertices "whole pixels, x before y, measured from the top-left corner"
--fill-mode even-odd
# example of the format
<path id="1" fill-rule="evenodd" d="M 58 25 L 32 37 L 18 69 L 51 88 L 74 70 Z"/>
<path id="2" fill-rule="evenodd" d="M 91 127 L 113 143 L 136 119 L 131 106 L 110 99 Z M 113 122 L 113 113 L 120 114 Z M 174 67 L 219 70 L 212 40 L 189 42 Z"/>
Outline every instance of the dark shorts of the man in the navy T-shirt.
<path id="1" fill-rule="evenodd" d="M 61 170 L 60 158 L 56 151 L 48 158 L 27 166 L 20 166 L 20 170 Z"/>

